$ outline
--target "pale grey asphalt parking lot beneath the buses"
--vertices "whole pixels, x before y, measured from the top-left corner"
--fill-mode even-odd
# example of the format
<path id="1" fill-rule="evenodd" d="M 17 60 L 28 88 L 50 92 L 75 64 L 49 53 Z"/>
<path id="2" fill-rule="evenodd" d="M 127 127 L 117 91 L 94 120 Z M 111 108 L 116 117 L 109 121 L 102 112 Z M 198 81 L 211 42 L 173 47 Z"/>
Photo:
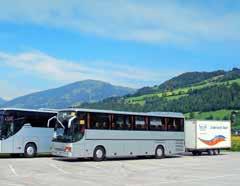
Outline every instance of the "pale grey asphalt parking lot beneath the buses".
<path id="1" fill-rule="evenodd" d="M 0 158 L 0 186 L 239 185 L 240 153 L 94 162 L 38 157 Z"/>

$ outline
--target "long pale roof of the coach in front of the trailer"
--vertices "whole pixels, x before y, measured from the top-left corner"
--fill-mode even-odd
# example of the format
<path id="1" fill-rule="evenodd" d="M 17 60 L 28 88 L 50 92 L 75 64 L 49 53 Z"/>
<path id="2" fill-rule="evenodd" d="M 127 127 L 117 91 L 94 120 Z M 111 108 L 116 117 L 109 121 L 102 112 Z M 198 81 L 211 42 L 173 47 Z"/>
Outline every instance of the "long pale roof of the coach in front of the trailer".
<path id="1" fill-rule="evenodd" d="M 124 111 L 114 111 L 114 110 L 98 110 L 98 109 L 83 109 L 83 108 L 60 109 L 59 111 L 76 111 L 76 112 L 79 111 L 79 112 L 184 118 L 184 115 L 178 112 L 124 112 Z"/>

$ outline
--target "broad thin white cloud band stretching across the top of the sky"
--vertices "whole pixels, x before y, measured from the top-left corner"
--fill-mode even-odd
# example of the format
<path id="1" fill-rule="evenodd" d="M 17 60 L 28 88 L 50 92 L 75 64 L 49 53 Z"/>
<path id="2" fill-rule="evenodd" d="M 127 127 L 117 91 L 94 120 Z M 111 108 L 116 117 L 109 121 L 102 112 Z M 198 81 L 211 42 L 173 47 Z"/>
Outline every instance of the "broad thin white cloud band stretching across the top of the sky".
<path id="1" fill-rule="evenodd" d="M 239 11 L 219 13 L 181 1 L 8 0 L 0 6 L 3 21 L 147 43 L 239 40 L 239 19 Z"/>

